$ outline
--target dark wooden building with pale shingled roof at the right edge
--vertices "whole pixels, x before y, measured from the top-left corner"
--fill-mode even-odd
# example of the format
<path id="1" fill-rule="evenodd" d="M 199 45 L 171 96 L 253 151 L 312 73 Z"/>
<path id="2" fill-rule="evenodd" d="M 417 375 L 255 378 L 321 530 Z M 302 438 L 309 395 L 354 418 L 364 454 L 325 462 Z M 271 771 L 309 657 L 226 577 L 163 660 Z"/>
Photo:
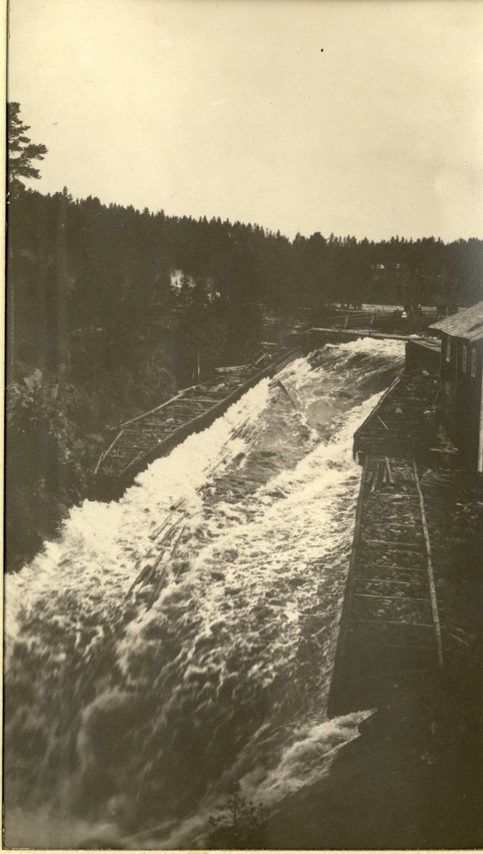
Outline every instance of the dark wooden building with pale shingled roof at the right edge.
<path id="1" fill-rule="evenodd" d="M 483 302 L 438 320 L 441 333 L 440 411 L 451 442 L 483 473 Z"/>

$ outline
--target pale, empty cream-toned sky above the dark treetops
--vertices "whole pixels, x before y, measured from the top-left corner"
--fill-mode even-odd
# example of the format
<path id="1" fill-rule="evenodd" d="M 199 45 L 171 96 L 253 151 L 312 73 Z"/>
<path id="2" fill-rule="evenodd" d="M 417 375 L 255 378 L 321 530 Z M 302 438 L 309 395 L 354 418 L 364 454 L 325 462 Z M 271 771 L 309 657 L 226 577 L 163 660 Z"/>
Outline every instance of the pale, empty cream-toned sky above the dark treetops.
<path id="1" fill-rule="evenodd" d="M 480 0 L 10 0 L 9 100 L 44 193 L 483 237 Z"/>

